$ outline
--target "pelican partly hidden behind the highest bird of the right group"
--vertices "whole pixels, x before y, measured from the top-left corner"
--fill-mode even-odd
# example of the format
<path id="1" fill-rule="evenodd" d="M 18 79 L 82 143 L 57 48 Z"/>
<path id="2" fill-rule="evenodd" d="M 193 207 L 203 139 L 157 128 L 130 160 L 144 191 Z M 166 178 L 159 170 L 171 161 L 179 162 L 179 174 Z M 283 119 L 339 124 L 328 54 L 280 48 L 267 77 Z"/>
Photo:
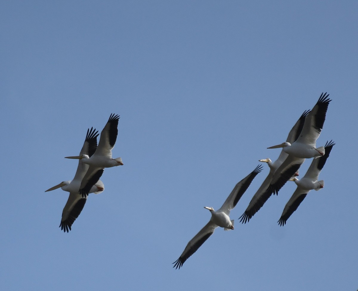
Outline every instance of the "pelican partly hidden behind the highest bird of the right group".
<path id="1" fill-rule="evenodd" d="M 287 142 L 293 143 L 300 135 L 303 124 L 305 122 L 306 116 L 309 113 L 309 110 L 306 110 L 302 113 L 300 118 L 296 121 L 295 125 L 291 128 L 289 135 L 287 136 Z M 271 183 L 272 176 L 274 176 L 275 170 L 279 168 L 279 166 L 284 162 L 288 154 L 281 150 L 281 154 L 274 163 L 272 163 L 270 158 L 259 160 L 262 163 L 267 163 L 270 168 L 269 175 L 267 175 L 266 179 L 262 182 L 260 188 L 256 191 L 253 195 L 248 207 L 246 208 L 245 212 L 241 215 L 240 222 L 246 223 L 249 222 L 253 215 L 260 210 L 260 208 L 265 204 L 265 202 L 271 197 L 272 192 L 267 190 L 268 186 Z M 298 170 L 294 174 L 298 176 Z"/>

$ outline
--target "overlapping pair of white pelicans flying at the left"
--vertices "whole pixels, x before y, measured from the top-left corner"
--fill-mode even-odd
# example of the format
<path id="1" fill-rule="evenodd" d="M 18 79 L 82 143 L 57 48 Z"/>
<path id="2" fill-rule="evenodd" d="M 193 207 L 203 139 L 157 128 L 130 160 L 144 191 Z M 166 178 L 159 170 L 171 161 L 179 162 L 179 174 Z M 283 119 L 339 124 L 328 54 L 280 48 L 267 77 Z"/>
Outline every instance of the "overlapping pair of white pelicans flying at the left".
<path id="1" fill-rule="evenodd" d="M 123 165 L 122 159 L 112 159 L 112 149 L 118 135 L 119 115 L 111 114 L 105 127 L 101 132 L 100 141 L 97 146 L 98 131 L 96 128 L 87 130 L 79 156 L 69 156 L 67 159 L 78 159 L 76 174 L 71 181 L 62 181 L 60 184 L 46 190 L 52 191 L 61 188 L 69 192 L 67 203 L 62 211 L 61 230 L 71 230 L 73 222 L 81 213 L 89 193 L 99 194 L 104 189 L 100 180 L 105 168 Z"/>

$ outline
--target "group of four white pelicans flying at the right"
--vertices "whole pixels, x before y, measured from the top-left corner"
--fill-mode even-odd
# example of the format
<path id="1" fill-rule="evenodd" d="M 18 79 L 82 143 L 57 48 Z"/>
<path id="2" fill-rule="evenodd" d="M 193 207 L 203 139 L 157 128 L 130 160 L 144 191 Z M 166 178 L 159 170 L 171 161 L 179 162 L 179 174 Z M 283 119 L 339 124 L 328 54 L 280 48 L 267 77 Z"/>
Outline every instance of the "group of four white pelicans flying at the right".
<path id="1" fill-rule="evenodd" d="M 323 180 L 318 181 L 318 176 L 326 163 L 332 147 L 335 145 L 331 140 L 326 142 L 324 147 L 316 148 L 316 140 L 323 128 L 328 105 L 331 101 L 328 96 L 329 94 L 322 93 L 313 109 L 303 112 L 299 120 L 292 127 L 285 142 L 268 147 L 268 149 L 282 147 L 281 154 L 274 163 L 269 158 L 259 160 L 269 165 L 270 172 L 253 195 L 245 212 L 239 218 L 240 222 L 248 222 L 260 210 L 267 199 L 272 194 L 278 194 L 282 186 L 289 180 L 296 183 L 297 189 L 287 202 L 278 221 L 281 226 L 286 224 L 287 219 L 297 210 L 310 190 L 317 191 L 323 188 L 324 182 Z M 305 159 L 310 158 L 314 159 L 307 173 L 301 180 L 297 179 L 300 166 Z M 184 262 L 214 233 L 215 228 L 223 227 L 226 231 L 234 229 L 234 220 L 229 218 L 230 210 L 236 206 L 238 200 L 240 200 L 252 180 L 261 170 L 262 166 L 257 166 L 248 176 L 237 183 L 219 210 L 214 211 L 212 207 L 204 207 L 211 212 L 209 222 L 188 242 L 183 253 L 173 263 L 173 267 L 180 269 Z"/>

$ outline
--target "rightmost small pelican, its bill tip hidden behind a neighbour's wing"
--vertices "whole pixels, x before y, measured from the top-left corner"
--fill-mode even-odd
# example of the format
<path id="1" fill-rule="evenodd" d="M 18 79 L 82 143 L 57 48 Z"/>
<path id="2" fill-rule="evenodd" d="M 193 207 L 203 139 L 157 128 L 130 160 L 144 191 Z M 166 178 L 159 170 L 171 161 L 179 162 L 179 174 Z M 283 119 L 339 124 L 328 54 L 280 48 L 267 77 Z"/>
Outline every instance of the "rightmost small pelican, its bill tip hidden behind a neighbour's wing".
<path id="1" fill-rule="evenodd" d="M 291 181 L 295 181 L 297 189 L 293 193 L 289 202 L 287 202 L 284 211 L 282 212 L 281 218 L 278 221 L 279 225 L 284 226 L 286 224 L 287 219 L 289 219 L 292 213 L 296 211 L 310 190 L 318 191 L 323 188 L 324 181 L 318 181 L 318 176 L 324 164 L 326 163 L 326 160 L 328 159 L 334 145 L 335 144 L 332 142 L 332 140 L 330 142 L 326 142 L 324 147 L 324 156 L 321 156 L 318 159 L 314 159 L 312 161 L 306 175 L 301 180 L 298 180 L 297 178 L 290 179 Z"/>

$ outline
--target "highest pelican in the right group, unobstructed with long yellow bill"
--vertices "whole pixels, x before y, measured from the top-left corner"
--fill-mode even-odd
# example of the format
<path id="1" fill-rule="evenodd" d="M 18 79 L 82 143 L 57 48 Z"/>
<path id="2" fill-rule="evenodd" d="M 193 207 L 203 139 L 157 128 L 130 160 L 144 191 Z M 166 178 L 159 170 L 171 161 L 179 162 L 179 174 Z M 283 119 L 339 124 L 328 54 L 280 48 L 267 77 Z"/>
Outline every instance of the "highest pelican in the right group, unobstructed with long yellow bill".
<path id="1" fill-rule="evenodd" d="M 296 173 L 305 159 L 324 155 L 324 147 L 316 148 L 316 140 L 323 128 L 329 102 L 332 101 L 328 96 L 327 93 L 321 94 L 316 105 L 306 116 L 300 136 L 292 145 L 290 142 L 283 142 L 280 145 L 268 147 L 268 149 L 283 147 L 283 150 L 289 154 L 272 177 L 269 186 L 272 193 L 279 193 L 282 186 Z"/>

